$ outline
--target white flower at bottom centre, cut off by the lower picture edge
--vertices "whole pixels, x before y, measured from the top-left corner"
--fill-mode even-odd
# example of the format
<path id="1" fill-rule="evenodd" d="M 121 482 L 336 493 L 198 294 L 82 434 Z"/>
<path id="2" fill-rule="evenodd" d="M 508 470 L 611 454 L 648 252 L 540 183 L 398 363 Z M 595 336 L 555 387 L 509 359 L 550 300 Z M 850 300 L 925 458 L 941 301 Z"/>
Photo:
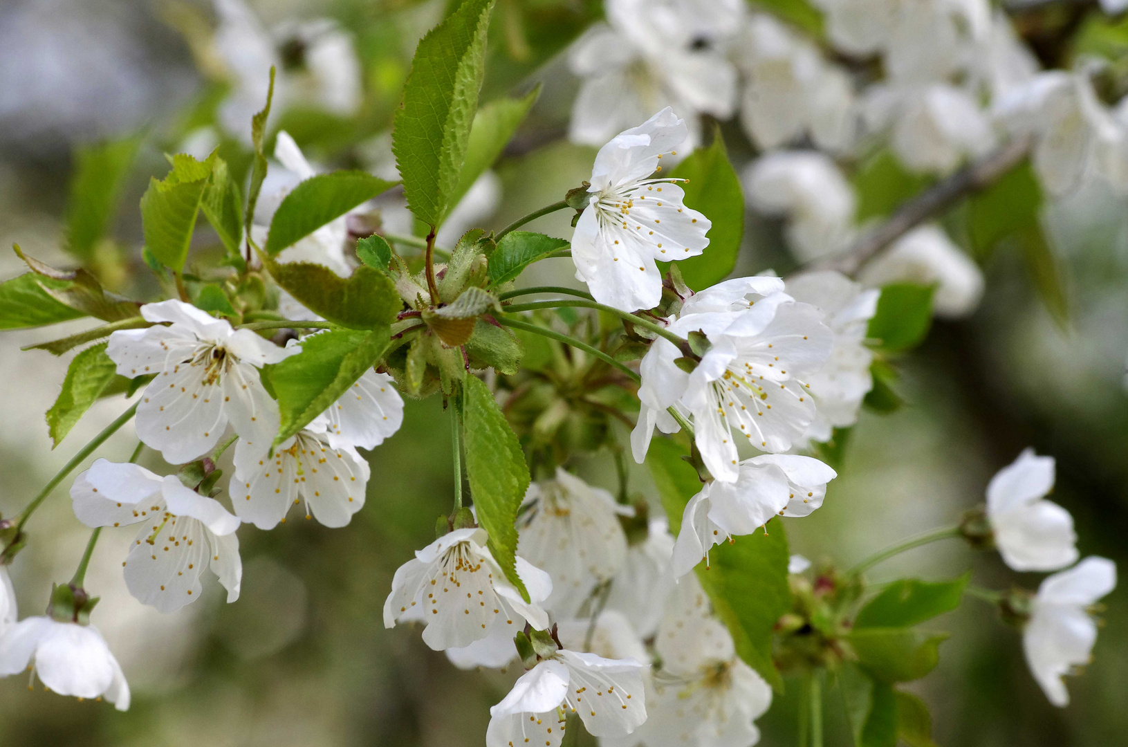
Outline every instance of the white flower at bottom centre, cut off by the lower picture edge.
<path id="1" fill-rule="evenodd" d="M 564 720 L 575 711 L 596 737 L 625 737 L 646 720 L 643 665 L 563 649 L 521 675 L 501 703 L 490 709 L 486 747 L 564 738 Z"/>

